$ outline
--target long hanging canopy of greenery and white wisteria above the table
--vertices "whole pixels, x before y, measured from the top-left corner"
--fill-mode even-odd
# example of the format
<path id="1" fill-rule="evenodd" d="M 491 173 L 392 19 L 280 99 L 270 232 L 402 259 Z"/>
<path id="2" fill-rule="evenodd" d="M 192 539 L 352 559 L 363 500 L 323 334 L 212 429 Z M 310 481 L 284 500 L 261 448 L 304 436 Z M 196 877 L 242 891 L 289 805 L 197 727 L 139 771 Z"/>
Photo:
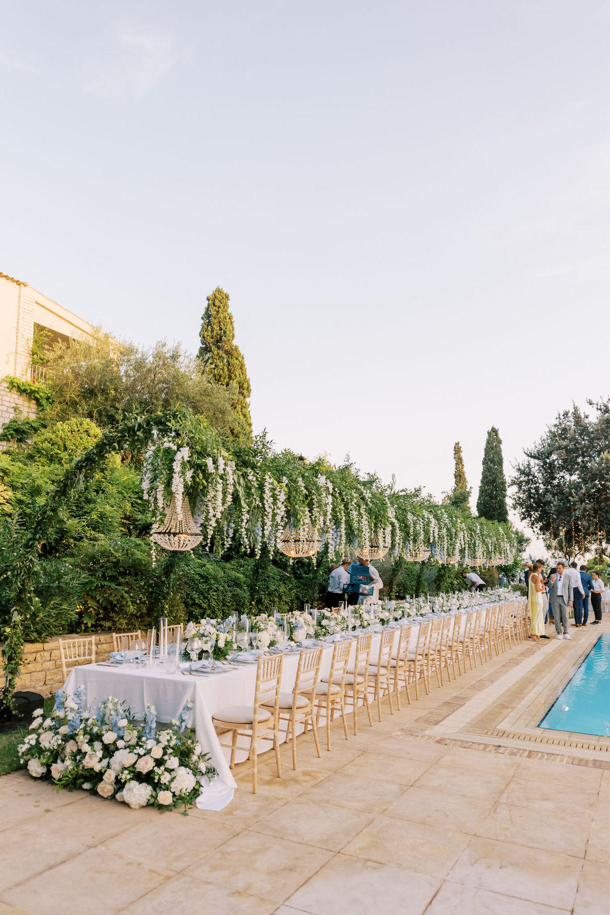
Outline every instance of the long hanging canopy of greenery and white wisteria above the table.
<path id="1" fill-rule="evenodd" d="M 351 464 L 306 461 L 274 452 L 264 436 L 228 453 L 200 417 L 183 416 L 179 428 L 153 436 L 144 458 L 144 497 L 161 517 L 174 500 L 187 499 L 204 544 L 222 553 L 230 544 L 273 555 L 286 527 L 305 536 L 311 525 L 330 559 L 375 546 L 395 557 L 430 553 L 443 563 L 513 561 L 517 536 L 510 524 L 466 520 L 451 506 L 396 490 Z"/>

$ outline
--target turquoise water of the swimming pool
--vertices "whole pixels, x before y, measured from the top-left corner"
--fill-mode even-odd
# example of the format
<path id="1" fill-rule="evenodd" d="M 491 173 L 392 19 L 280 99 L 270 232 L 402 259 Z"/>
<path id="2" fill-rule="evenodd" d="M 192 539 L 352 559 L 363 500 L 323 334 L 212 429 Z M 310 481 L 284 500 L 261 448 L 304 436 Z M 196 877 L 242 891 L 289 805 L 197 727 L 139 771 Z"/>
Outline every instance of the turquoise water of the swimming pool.
<path id="1" fill-rule="evenodd" d="M 538 727 L 610 737 L 610 633 L 595 642 Z"/>

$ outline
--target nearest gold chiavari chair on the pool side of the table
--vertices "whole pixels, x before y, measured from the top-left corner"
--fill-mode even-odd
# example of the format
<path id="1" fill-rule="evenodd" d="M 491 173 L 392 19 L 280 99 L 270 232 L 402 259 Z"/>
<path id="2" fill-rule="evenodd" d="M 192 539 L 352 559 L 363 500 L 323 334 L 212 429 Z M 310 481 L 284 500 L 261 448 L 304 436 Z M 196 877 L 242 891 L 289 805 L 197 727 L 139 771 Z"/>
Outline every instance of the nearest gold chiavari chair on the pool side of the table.
<path id="1" fill-rule="evenodd" d="M 219 733 L 232 732 L 230 744 L 230 769 L 235 765 L 238 737 L 250 740 L 248 759 L 252 763 L 252 793 L 256 794 L 258 785 L 258 747 L 259 739 L 273 741 L 275 765 L 278 779 L 282 778 L 282 759 L 280 758 L 279 718 L 280 688 L 284 654 L 273 654 L 271 657 L 259 658 L 256 667 L 256 686 L 253 705 L 233 705 L 220 709 L 212 717 L 212 724 Z M 273 708 L 265 704 L 273 701 Z M 227 746 L 227 744 L 222 744 Z"/>

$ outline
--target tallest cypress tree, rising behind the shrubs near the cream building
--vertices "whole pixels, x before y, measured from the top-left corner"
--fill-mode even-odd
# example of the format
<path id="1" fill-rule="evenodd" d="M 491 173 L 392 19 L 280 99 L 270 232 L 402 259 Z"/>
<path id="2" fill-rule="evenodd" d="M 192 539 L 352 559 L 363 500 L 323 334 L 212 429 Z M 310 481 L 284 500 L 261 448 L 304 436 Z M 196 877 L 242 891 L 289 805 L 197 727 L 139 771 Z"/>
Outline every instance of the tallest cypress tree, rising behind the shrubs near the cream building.
<path id="1" fill-rule="evenodd" d="M 229 296 L 217 286 L 207 297 L 208 305 L 201 316 L 199 359 L 212 381 L 237 388 L 238 396 L 233 408 L 251 432 L 252 421 L 248 398 L 251 395 L 250 379 L 241 350 L 235 345 L 235 325 L 229 310 Z"/>

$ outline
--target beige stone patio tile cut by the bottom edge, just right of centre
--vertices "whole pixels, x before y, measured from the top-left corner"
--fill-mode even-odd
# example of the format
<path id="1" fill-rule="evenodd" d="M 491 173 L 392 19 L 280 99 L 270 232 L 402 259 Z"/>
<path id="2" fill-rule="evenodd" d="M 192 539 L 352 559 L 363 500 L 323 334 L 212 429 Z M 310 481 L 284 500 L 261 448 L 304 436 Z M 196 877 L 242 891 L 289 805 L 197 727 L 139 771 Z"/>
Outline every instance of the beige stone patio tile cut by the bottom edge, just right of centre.
<path id="1" fill-rule="evenodd" d="M 297 889 L 287 904 L 312 915 L 421 915 L 439 883 L 437 877 L 402 867 L 337 855 Z"/>

